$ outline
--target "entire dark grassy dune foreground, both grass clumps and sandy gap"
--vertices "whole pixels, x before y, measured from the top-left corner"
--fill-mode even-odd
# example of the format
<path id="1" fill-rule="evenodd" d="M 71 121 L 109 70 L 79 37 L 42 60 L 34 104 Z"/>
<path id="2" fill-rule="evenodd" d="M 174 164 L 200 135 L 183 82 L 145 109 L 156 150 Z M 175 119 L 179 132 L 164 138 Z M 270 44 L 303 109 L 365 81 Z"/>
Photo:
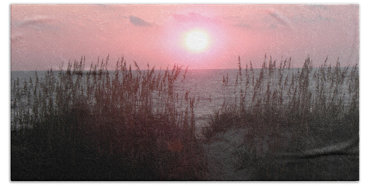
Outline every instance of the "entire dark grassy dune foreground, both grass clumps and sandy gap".
<path id="1" fill-rule="evenodd" d="M 290 61 L 239 58 L 200 134 L 178 66 L 84 71 L 82 58 L 13 80 L 11 180 L 359 180 L 358 66 Z"/>

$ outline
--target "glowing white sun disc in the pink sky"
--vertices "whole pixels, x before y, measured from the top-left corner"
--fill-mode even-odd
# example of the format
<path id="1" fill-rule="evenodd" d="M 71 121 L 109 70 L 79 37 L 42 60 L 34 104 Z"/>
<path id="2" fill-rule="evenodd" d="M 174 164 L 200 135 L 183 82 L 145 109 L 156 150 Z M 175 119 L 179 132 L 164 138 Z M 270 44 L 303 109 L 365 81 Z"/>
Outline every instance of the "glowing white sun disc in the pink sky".
<path id="1" fill-rule="evenodd" d="M 185 46 L 194 52 L 201 52 L 208 47 L 209 36 L 203 30 L 190 30 L 185 34 Z"/>

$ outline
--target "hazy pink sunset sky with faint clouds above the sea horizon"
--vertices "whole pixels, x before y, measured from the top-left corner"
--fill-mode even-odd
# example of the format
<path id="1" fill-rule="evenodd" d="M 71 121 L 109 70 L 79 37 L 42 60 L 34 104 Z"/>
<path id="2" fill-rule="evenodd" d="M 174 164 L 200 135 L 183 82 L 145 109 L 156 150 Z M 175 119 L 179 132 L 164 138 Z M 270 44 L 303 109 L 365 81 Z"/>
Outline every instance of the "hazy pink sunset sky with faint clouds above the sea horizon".
<path id="1" fill-rule="evenodd" d="M 178 42 L 187 30 L 206 30 L 211 45 L 192 53 Z M 110 54 L 166 68 L 260 67 L 265 53 L 314 66 L 326 56 L 343 66 L 359 61 L 358 5 L 12 5 L 11 70 L 58 69 L 86 56 L 86 66 Z M 283 58 L 282 58 L 283 56 Z M 245 66 L 245 64 L 243 65 Z"/>

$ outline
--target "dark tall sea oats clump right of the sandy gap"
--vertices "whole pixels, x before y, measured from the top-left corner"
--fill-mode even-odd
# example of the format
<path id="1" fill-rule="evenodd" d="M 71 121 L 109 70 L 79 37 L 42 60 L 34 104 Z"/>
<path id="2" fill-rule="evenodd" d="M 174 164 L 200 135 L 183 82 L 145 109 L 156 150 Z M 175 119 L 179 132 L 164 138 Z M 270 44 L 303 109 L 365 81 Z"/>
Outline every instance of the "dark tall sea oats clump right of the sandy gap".
<path id="1" fill-rule="evenodd" d="M 223 107 L 212 117 L 209 141 L 229 128 L 246 128 L 238 169 L 251 180 L 359 179 L 359 68 L 326 61 L 291 68 L 291 58 L 270 57 L 258 73 L 252 62 L 239 71 L 234 86 L 223 76 Z M 249 64 L 249 66 L 248 66 Z"/>

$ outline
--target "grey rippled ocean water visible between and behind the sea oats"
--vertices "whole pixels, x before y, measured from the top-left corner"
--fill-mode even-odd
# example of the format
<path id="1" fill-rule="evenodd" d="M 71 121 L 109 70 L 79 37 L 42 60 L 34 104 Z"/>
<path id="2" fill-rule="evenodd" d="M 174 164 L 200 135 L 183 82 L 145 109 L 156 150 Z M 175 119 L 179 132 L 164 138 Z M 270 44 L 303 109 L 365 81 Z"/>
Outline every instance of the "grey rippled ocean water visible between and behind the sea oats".
<path id="1" fill-rule="evenodd" d="M 298 73 L 301 69 L 285 69 L 283 71 L 283 75 L 281 80 L 284 82 L 286 78 L 287 82 L 290 83 L 291 76 L 293 74 Z M 315 69 L 314 69 L 315 70 Z M 143 71 L 142 71 L 143 72 Z M 158 72 L 158 70 L 156 70 Z M 254 69 L 254 81 L 259 77 L 260 69 Z M 43 81 L 45 78 L 45 74 L 47 71 L 38 71 L 38 77 L 40 81 Z M 162 70 L 162 73 L 164 71 Z M 277 74 L 277 69 L 275 72 Z M 54 72 L 54 75 L 57 77 L 58 71 Z M 110 75 L 113 76 L 114 72 L 111 71 Z M 184 70 L 182 70 L 181 76 L 175 83 L 174 90 L 179 95 L 179 97 L 184 98 L 184 94 L 186 91 L 190 91 L 190 96 L 195 97 L 195 122 L 198 128 L 206 126 L 209 121 L 209 117 L 216 113 L 219 109 L 222 108 L 224 102 L 232 102 L 234 104 L 234 100 L 236 100 L 236 96 L 240 95 L 240 87 L 243 89 L 243 93 L 245 91 L 245 85 L 247 81 L 247 76 L 245 76 L 245 69 L 242 70 L 242 81 L 240 81 L 239 70 L 238 69 L 205 69 L 205 70 L 188 70 L 185 75 L 185 80 L 183 80 Z M 253 95 L 253 87 L 252 84 L 252 73 L 248 69 L 248 74 L 250 74 L 248 79 L 247 96 L 245 96 L 245 104 L 250 104 L 252 95 Z M 268 74 L 265 74 L 268 76 Z M 308 89 L 311 92 L 314 92 L 316 85 L 312 78 L 313 72 L 310 74 L 310 82 Z M 273 90 L 280 90 L 279 81 L 280 76 L 275 75 L 274 79 L 269 80 L 270 88 Z M 35 72 L 34 71 L 11 71 L 11 86 L 13 87 L 14 82 L 19 79 L 20 86 L 22 87 L 24 81 L 29 81 L 29 78 L 35 82 Z M 236 85 L 236 79 L 238 79 L 238 83 Z M 223 80 L 227 80 L 228 83 L 224 84 Z M 241 83 L 240 83 L 241 82 Z M 266 93 L 267 83 L 263 84 L 262 94 Z M 329 84 L 325 85 L 326 87 Z M 348 85 L 347 83 L 343 83 L 342 87 L 339 88 L 340 92 L 338 95 L 342 96 L 344 102 L 347 104 L 350 102 L 351 97 L 348 96 Z M 342 91 L 341 91 L 342 90 Z M 283 89 L 283 94 L 286 95 L 287 88 Z M 175 93 L 175 94 L 176 94 Z M 11 94 L 11 100 L 13 100 L 13 93 Z M 312 95 L 314 96 L 314 95 Z M 237 97 L 238 100 L 239 97 Z M 227 104 L 229 105 L 229 104 Z"/>

